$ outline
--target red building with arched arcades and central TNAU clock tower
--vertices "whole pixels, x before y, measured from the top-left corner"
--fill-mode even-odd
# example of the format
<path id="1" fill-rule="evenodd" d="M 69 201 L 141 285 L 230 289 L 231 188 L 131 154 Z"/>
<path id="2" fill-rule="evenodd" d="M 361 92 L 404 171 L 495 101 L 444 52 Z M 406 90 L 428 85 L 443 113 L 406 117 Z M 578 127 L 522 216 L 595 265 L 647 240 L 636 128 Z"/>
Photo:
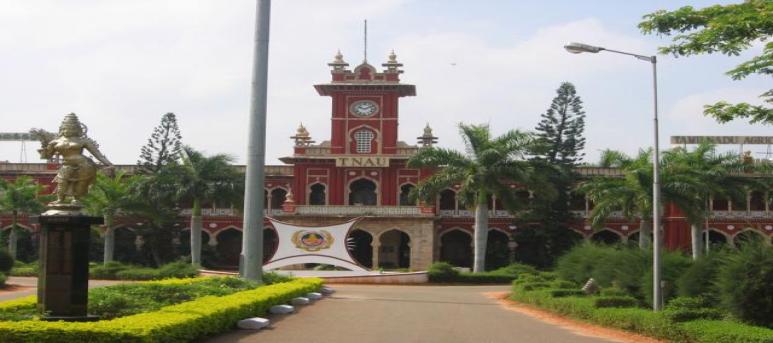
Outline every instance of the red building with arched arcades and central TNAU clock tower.
<path id="1" fill-rule="evenodd" d="M 422 146 L 436 144 L 429 125 L 412 145 L 399 140 L 400 100 L 415 96 L 414 85 L 402 83 L 402 64 L 394 53 L 381 70 L 363 62 L 349 68 L 340 52 L 329 63 L 329 82 L 314 85 L 320 96 L 331 98 L 330 137 L 318 144 L 301 125 L 295 135 L 292 155 L 280 160 L 284 165 L 267 166 L 265 213 L 269 217 L 299 225 L 337 224 L 361 218 L 349 234 L 352 256 L 368 268 L 426 269 L 434 261 L 448 261 L 469 267 L 473 254 L 473 212 L 456 199 L 458 186 L 442 191 L 435 203 L 416 204 L 408 194 L 432 170 L 408 168 L 407 160 Z M 417 130 L 419 131 L 419 130 Z M 33 176 L 49 187 L 57 165 L 0 164 L 0 177 Z M 121 166 L 129 172 L 132 166 Z M 243 168 L 243 167 L 241 167 Z M 585 177 L 620 176 L 607 168 L 579 168 Z M 520 194 L 530 197 L 528 191 Z M 734 244 L 749 235 L 771 242 L 773 204 L 762 192 L 750 192 L 746 203 L 712 200 L 713 213 L 707 227 L 711 242 Z M 592 203 L 584 197 L 572 200 L 577 221 L 572 226 L 578 239 L 602 242 L 637 239 L 638 222 L 628 222 L 613 214 L 602 230 L 592 230 L 586 218 Z M 510 261 L 517 244 L 512 236 L 519 228 L 513 216 L 496 198 L 490 200 L 489 245 L 487 259 L 492 265 Z M 241 250 L 240 209 L 210 204 L 203 210 L 204 242 L 217 251 L 225 265 L 238 263 Z M 186 215 L 180 214 L 181 234 L 176 243 L 187 244 Z M 664 213 L 665 244 L 672 249 L 689 249 L 689 225 L 679 210 L 667 206 Z M 119 239 L 133 240 L 141 249 L 142 237 L 132 235 L 141 223 L 119 225 Z M 0 217 L 0 228 L 7 229 L 10 218 Z M 37 228 L 22 218 L 21 226 L 31 232 Z M 269 258 L 276 247 L 276 235 L 265 222 L 264 255 Z M 123 238 L 121 238 L 123 237 Z"/>

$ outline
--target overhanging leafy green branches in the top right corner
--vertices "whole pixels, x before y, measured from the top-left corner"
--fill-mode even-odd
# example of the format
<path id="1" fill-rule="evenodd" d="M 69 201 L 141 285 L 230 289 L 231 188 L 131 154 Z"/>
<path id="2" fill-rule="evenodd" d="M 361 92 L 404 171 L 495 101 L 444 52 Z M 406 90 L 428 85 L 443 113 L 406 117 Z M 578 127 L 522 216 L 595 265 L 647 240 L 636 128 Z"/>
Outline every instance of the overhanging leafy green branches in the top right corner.
<path id="1" fill-rule="evenodd" d="M 673 37 L 673 44 L 660 48 L 663 54 L 690 56 L 722 53 L 739 55 L 755 42 L 765 42 L 773 34 L 773 2 L 747 0 L 740 4 L 714 5 L 702 9 L 685 6 L 675 11 L 660 10 L 644 16 L 639 28 L 645 34 Z M 773 42 L 765 43 L 759 56 L 728 71 L 734 80 L 749 75 L 773 74 Z M 760 96 L 766 105 L 729 104 L 725 101 L 707 105 L 704 114 L 724 123 L 748 118 L 751 123 L 773 124 L 773 90 Z"/>

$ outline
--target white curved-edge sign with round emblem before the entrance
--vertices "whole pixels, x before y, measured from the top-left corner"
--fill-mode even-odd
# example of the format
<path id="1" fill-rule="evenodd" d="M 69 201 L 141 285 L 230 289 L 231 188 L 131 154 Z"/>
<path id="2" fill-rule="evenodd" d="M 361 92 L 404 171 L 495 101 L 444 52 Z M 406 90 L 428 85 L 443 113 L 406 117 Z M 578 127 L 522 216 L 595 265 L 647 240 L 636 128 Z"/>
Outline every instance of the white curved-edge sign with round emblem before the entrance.
<path id="1" fill-rule="evenodd" d="M 271 260 L 263 265 L 266 270 L 302 263 L 322 263 L 354 271 L 367 271 L 357 263 L 346 248 L 346 237 L 355 218 L 343 224 L 307 227 L 297 226 L 268 218 L 277 234 L 277 249 Z M 317 244 L 304 242 L 307 234 L 315 235 Z"/>

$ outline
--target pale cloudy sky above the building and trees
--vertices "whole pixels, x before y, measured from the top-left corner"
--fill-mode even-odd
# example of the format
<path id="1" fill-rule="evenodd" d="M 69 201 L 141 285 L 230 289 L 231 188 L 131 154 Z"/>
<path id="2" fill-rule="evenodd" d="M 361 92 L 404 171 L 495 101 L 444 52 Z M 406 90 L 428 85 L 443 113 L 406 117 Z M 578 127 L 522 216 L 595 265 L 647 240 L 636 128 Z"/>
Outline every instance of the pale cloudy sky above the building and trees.
<path id="1" fill-rule="evenodd" d="M 351 67 L 385 62 L 394 49 L 402 82 L 400 140 L 427 123 L 440 145 L 462 149 L 458 124 L 494 134 L 533 130 L 561 82 L 586 111 L 586 161 L 603 149 L 634 154 L 653 143 L 652 70 L 612 53 L 573 55 L 578 41 L 645 55 L 668 37 L 645 36 L 644 14 L 716 1 L 282 0 L 271 8 L 266 163 L 281 164 L 303 123 L 330 136 L 330 80 L 338 49 Z M 173 112 L 183 142 L 245 162 L 255 2 L 195 0 L 0 0 L 0 132 L 56 131 L 75 112 L 115 164 L 133 164 L 161 116 Z M 759 54 L 658 56 L 660 146 L 672 135 L 770 135 L 770 126 L 717 124 L 718 100 L 759 103 L 770 79 L 724 73 Z M 39 162 L 36 142 L 0 142 L 0 161 Z M 736 149 L 737 147 L 729 147 Z M 765 146 L 749 147 L 756 157 Z M 25 157 L 26 156 L 26 157 Z"/>

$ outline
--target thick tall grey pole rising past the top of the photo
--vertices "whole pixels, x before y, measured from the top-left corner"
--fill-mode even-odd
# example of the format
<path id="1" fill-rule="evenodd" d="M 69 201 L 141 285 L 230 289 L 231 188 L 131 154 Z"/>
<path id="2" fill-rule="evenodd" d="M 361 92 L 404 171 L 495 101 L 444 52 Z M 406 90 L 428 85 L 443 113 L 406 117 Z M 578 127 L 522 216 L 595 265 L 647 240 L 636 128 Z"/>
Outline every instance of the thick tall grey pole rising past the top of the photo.
<path id="1" fill-rule="evenodd" d="M 266 88 L 268 80 L 268 33 L 271 0 L 257 1 L 255 51 L 252 65 L 249 144 L 244 187 L 244 228 L 239 275 L 262 282 L 263 189 L 266 163 Z"/>

